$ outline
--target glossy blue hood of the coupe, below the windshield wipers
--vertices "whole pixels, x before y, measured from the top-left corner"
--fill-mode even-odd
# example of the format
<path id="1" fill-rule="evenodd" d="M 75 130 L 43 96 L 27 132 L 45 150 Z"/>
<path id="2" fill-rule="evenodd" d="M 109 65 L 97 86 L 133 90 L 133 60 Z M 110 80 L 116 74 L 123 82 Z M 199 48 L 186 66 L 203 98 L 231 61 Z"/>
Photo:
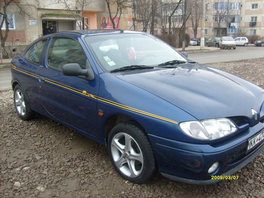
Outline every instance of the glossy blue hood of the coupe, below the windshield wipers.
<path id="1" fill-rule="evenodd" d="M 264 100 L 264 90 L 260 87 L 201 64 L 185 63 L 182 67 L 145 71 L 116 77 L 155 94 L 197 119 L 232 116 L 253 119 L 251 108 L 259 113 Z"/>

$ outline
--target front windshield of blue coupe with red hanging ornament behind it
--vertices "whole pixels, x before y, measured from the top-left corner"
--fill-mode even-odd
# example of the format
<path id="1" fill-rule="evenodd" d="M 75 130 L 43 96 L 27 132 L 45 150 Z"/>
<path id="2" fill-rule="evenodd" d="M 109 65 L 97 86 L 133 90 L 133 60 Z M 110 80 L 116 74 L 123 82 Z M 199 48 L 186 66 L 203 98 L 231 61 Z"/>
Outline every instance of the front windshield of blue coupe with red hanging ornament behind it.
<path id="1" fill-rule="evenodd" d="M 131 65 L 157 66 L 171 60 L 189 61 L 150 34 L 104 34 L 87 36 L 85 40 L 107 73 Z"/>

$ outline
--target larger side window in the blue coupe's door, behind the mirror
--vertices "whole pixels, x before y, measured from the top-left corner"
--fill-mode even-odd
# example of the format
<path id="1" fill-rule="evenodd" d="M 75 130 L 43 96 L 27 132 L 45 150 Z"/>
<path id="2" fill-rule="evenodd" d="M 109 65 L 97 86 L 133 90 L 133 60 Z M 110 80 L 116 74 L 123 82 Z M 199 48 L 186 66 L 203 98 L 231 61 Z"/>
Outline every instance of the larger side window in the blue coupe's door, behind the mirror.
<path id="1" fill-rule="evenodd" d="M 53 38 L 48 50 L 48 66 L 62 71 L 62 66 L 68 63 L 78 63 L 86 69 L 86 56 L 81 45 L 71 38 Z"/>

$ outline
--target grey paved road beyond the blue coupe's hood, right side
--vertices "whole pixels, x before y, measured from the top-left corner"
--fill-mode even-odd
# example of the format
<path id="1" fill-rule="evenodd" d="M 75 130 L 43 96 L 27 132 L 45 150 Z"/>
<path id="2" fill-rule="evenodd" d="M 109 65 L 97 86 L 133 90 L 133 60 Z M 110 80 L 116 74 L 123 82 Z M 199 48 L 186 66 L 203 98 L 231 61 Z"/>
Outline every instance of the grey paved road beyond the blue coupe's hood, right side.
<path id="1" fill-rule="evenodd" d="M 213 47 L 212 47 L 213 48 Z M 214 63 L 241 59 L 264 57 L 264 47 L 236 46 L 236 49 L 224 49 L 209 53 L 189 53 L 188 58 L 198 63 Z"/>

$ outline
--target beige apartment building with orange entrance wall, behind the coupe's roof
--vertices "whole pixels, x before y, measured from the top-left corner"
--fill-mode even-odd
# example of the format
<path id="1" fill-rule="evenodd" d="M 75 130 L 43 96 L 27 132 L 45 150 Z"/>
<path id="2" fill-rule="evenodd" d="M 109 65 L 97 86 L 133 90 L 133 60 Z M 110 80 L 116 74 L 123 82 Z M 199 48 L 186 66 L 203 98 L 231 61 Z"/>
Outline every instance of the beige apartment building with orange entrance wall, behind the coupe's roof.
<path id="1" fill-rule="evenodd" d="M 54 32 L 79 29 L 101 29 L 102 18 L 109 17 L 105 0 L 83 1 L 86 5 L 78 4 L 77 0 L 14 0 L 7 6 L 7 18 L 9 22 L 9 32 L 5 46 L 10 46 L 13 55 L 20 53 L 28 44 L 44 33 L 45 26 L 53 26 Z M 63 3 L 66 2 L 66 3 Z M 4 1 L 0 0 L 1 12 Z M 30 14 L 26 18 L 20 12 L 20 8 Z M 115 5 L 110 5 L 111 11 L 116 12 Z M 129 13 L 129 14 L 128 14 Z M 0 15 L 0 22 L 1 20 Z M 131 27 L 131 9 L 118 15 L 116 21 L 119 27 L 127 30 Z M 107 22 L 107 21 L 106 21 Z M 108 23 L 110 20 L 108 19 Z M 108 25 L 107 28 L 112 28 Z M 2 34 L 5 35 L 5 23 L 2 26 Z M 12 55 L 10 55 L 11 57 Z"/>

